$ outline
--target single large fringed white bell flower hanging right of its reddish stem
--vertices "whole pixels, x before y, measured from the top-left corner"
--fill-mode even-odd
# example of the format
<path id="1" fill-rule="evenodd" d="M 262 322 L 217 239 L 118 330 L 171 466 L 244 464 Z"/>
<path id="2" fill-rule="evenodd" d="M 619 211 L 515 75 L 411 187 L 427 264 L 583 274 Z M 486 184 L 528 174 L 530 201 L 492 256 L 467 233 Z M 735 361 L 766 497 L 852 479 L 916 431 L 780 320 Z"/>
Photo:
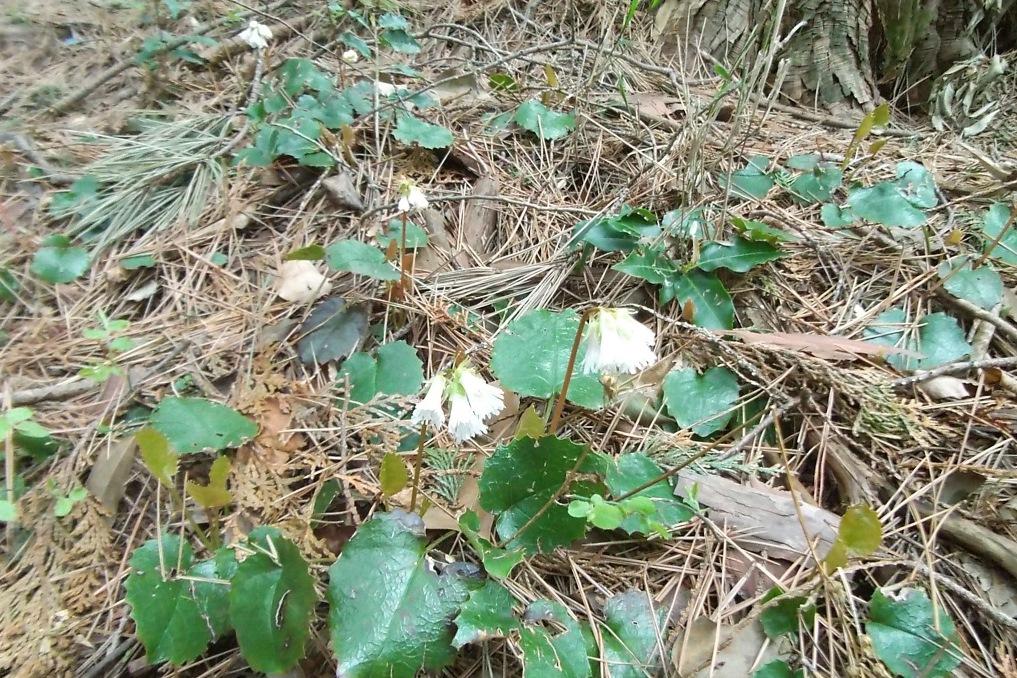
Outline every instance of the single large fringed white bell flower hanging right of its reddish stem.
<path id="1" fill-rule="evenodd" d="M 589 321 L 583 372 L 633 374 L 651 365 L 653 330 L 633 317 L 627 308 L 599 308 Z"/>

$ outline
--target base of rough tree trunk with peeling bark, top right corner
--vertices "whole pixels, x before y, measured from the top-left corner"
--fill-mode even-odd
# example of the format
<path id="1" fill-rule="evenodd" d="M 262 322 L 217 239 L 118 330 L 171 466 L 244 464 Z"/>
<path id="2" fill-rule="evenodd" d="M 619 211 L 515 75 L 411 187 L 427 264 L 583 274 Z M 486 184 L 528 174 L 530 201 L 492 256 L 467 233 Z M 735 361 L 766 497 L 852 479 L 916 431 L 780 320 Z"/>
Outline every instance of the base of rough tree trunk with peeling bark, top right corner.
<path id="1" fill-rule="evenodd" d="M 670 51 L 697 51 L 747 69 L 761 58 L 775 0 L 665 0 L 656 28 Z M 957 61 L 1013 46 L 1017 0 L 787 0 L 782 36 L 801 24 L 778 60 L 783 94 L 827 109 L 870 108 L 881 98 L 923 105 Z"/>

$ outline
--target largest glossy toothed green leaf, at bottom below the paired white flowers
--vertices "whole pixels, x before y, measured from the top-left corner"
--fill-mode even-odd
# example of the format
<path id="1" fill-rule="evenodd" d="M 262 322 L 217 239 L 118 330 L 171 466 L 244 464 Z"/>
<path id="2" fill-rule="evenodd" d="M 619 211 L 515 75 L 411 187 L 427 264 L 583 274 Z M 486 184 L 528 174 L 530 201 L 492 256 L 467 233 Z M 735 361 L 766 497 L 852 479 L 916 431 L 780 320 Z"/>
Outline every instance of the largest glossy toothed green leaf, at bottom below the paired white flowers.
<path id="1" fill-rule="evenodd" d="M 328 570 L 328 629 L 344 678 L 413 678 L 455 656 L 452 619 L 469 594 L 425 561 L 419 516 L 378 513 Z"/>

